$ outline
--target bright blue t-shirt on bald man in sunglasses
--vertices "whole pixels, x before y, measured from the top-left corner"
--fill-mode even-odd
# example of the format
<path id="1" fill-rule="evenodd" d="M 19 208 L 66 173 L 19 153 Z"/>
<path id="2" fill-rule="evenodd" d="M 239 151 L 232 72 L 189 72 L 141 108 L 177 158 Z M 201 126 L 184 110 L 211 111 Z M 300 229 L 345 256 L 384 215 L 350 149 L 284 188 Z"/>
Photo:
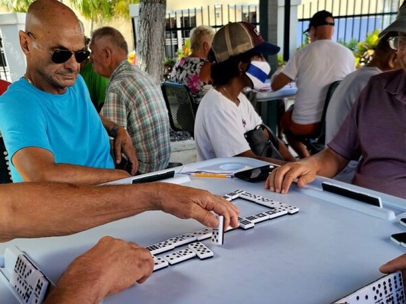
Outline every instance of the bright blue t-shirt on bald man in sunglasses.
<path id="1" fill-rule="evenodd" d="M 78 75 L 61 95 L 41 91 L 25 79 L 0 97 L 0 130 L 9 160 L 25 147 L 53 153 L 55 163 L 113 169 L 108 134 Z M 14 182 L 22 181 L 10 162 Z"/>

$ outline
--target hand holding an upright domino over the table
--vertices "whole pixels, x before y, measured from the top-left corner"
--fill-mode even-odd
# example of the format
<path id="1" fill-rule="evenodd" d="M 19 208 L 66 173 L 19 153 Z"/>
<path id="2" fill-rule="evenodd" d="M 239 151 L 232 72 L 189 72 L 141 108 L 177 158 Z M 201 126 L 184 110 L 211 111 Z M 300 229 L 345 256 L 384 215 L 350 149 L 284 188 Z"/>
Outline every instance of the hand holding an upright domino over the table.
<path id="1" fill-rule="evenodd" d="M 208 227 L 216 227 L 218 220 L 210 211 L 224 216 L 224 229 L 238 227 L 240 210 L 223 198 L 206 190 L 176 184 L 155 183 L 159 209 L 179 218 L 193 218 Z"/>

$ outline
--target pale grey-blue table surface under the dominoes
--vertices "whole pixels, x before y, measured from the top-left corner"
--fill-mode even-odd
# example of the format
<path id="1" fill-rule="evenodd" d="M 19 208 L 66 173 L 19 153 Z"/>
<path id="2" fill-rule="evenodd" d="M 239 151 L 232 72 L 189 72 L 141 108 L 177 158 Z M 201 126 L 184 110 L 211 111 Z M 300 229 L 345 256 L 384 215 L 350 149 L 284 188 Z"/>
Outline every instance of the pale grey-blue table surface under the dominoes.
<path id="1" fill-rule="evenodd" d="M 263 164 L 253 159 L 230 158 L 192 166 L 241 170 Z M 292 185 L 288 194 L 281 195 L 265 191 L 263 182 L 191 177 L 186 185 L 219 195 L 243 189 L 291 204 L 300 211 L 258 223 L 248 231 L 227 232 L 222 246 L 203 241 L 214 252 L 213 258 L 194 258 L 160 270 L 144 284 L 106 297 L 104 303 L 329 303 L 376 280 L 381 276 L 380 264 L 404 253 L 404 248 L 389 237 L 405 231 L 398 219 L 406 210 L 406 200 L 381 194 L 384 207 L 394 207 L 397 217 L 384 220 L 332 203 L 335 195 L 320 190 L 323 180 L 327 179 L 318 177 L 304 188 Z M 342 198 L 340 203 L 350 206 L 354 202 Z M 242 216 L 266 210 L 240 199 L 235 204 L 241 208 Z M 0 244 L 0 254 L 6 247 L 17 245 L 56 282 L 76 256 L 105 235 L 147 246 L 200 229 L 202 225 L 194 220 L 153 211 L 73 236 L 13 240 Z M 0 303 L 13 302 L 16 300 L 9 286 L 0 276 Z"/>

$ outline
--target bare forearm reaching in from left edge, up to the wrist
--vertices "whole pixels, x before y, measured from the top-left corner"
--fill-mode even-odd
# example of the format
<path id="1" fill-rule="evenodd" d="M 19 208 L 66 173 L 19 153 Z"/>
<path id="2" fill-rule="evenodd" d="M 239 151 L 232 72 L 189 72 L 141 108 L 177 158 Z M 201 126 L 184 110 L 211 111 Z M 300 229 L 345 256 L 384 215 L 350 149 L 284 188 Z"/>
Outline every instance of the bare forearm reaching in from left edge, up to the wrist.
<path id="1" fill-rule="evenodd" d="M 65 183 L 0 185 L 0 241 L 77 233 L 147 210 L 159 183 L 88 186 Z"/>

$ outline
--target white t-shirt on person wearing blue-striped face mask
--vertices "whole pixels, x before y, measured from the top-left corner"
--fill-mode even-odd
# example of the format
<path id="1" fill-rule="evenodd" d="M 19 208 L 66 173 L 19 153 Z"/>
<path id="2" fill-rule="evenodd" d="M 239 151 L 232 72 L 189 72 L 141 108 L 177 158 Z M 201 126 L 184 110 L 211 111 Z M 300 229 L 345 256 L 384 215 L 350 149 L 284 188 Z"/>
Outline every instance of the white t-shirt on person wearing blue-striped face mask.
<path id="1" fill-rule="evenodd" d="M 201 99 L 194 123 L 198 161 L 233 157 L 250 149 L 244 133 L 262 120 L 244 94 L 238 98 L 239 106 L 211 89 Z"/>

